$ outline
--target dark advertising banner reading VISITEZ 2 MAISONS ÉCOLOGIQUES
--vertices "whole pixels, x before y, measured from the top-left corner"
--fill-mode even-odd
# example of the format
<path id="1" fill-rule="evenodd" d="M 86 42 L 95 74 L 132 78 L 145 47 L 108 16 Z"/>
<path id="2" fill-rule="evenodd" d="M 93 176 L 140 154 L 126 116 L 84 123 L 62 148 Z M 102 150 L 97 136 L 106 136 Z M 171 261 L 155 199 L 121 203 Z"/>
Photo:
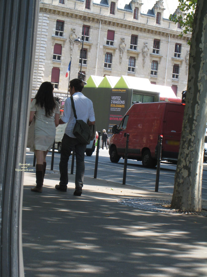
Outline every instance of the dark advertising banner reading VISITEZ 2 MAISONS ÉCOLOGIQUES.
<path id="1" fill-rule="evenodd" d="M 111 90 L 110 107 L 109 107 L 109 127 L 108 134 L 112 134 L 112 127 L 119 125 L 127 111 L 127 90 L 116 89 Z"/>

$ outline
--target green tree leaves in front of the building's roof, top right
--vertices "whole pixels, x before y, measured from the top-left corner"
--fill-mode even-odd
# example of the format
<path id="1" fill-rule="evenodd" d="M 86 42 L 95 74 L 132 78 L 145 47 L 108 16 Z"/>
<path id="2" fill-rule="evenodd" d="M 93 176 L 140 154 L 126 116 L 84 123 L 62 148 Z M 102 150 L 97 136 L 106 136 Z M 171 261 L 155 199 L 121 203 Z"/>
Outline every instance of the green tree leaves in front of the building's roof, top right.
<path id="1" fill-rule="evenodd" d="M 184 13 L 185 17 L 182 17 L 180 14 L 171 14 L 170 20 L 175 23 L 180 23 L 182 25 L 182 33 L 187 34 L 188 32 L 192 33 L 193 30 L 193 20 L 194 20 L 194 12 L 197 4 L 197 0 L 178 0 L 179 6 L 178 8 Z"/>

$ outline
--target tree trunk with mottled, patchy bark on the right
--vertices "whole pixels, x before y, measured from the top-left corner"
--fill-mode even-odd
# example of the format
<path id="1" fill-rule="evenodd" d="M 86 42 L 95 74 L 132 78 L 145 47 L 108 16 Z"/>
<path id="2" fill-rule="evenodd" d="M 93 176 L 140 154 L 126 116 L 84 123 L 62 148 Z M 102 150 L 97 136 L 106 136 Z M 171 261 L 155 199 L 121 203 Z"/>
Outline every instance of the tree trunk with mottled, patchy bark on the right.
<path id="1" fill-rule="evenodd" d="M 207 1 L 198 0 L 189 56 L 182 135 L 171 208 L 201 211 L 201 183 L 207 120 Z"/>

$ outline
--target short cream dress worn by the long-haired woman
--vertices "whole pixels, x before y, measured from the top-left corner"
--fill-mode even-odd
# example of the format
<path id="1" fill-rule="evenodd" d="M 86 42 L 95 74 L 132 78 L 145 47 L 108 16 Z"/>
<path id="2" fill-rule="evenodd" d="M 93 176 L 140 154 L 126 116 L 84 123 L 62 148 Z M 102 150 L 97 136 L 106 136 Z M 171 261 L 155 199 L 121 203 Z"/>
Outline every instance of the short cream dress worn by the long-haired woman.
<path id="1" fill-rule="evenodd" d="M 36 105 L 36 99 L 33 99 L 30 111 L 36 111 L 34 127 L 34 147 L 30 148 L 30 151 L 47 151 L 52 148 L 56 134 L 55 114 L 60 113 L 59 104 L 57 101 L 56 104 L 56 108 L 53 110 L 52 115 L 46 117 L 44 107 L 42 108 L 40 105 Z"/>

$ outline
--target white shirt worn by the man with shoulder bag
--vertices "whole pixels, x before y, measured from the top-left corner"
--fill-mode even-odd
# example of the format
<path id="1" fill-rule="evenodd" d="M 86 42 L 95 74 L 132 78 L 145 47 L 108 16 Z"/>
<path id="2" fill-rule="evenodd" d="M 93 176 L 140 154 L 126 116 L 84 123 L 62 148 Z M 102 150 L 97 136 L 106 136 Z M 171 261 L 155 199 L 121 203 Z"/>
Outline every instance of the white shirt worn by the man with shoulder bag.
<path id="1" fill-rule="evenodd" d="M 84 96 L 81 92 L 75 92 L 73 94 L 75 111 L 77 114 L 77 119 L 82 119 L 84 122 L 95 121 L 93 102 Z M 68 97 L 65 100 L 64 111 L 62 116 L 62 121 L 67 123 L 65 128 L 65 134 L 71 138 L 75 138 L 73 134 L 73 128 L 75 126 L 75 116 L 73 113 L 73 108 L 71 105 L 71 98 Z"/>

